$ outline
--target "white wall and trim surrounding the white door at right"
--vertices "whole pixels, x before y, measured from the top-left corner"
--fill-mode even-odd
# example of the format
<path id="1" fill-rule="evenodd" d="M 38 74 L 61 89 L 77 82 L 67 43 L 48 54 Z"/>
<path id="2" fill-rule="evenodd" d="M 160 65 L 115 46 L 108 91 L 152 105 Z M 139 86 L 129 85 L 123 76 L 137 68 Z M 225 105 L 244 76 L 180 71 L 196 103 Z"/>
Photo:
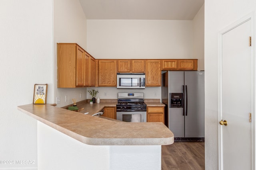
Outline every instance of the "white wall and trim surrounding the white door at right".
<path id="1" fill-rule="evenodd" d="M 205 0 L 206 170 L 218 169 L 218 33 L 255 10 L 255 0 Z"/>

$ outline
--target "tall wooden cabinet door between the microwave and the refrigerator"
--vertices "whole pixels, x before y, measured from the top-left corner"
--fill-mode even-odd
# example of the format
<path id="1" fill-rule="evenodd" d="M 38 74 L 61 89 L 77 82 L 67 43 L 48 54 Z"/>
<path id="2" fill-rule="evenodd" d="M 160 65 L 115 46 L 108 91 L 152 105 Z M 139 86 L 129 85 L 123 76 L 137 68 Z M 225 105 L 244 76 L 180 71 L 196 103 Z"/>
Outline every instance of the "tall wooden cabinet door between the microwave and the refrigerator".
<path id="1" fill-rule="evenodd" d="M 146 61 L 146 86 L 161 86 L 160 60 Z"/>

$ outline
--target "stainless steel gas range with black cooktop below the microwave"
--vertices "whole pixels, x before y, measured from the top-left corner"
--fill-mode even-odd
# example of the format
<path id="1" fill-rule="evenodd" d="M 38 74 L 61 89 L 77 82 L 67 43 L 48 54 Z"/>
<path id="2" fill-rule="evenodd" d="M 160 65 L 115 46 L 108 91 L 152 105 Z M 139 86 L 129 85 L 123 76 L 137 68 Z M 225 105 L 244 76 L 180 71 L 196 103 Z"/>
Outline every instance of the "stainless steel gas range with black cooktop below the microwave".
<path id="1" fill-rule="evenodd" d="M 146 122 L 144 93 L 118 93 L 116 119 L 126 122 Z"/>

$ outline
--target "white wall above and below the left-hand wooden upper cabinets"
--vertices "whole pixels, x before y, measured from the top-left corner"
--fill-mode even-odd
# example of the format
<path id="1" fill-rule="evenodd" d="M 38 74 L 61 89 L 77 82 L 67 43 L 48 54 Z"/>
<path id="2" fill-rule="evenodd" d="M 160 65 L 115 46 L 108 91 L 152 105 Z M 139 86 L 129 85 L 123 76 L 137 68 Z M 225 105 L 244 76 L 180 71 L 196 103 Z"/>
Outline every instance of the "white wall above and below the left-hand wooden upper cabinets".
<path id="1" fill-rule="evenodd" d="M 60 98 L 58 107 L 72 104 L 72 98 L 77 102 L 86 99 L 86 88 L 57 88 L 57 43 L 77 43 L 86 50 L 86 27 L 79 0 L 54 0 L 54 102 Z"/>

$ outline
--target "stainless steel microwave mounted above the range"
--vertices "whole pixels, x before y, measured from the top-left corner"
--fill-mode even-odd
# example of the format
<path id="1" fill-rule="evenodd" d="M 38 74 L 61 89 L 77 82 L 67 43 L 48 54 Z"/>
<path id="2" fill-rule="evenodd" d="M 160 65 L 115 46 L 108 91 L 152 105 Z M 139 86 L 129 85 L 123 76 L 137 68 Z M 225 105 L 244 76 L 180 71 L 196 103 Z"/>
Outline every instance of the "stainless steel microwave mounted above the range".
<path id="1" fill-rule="evenodd" d="M 117 73 L 116 88 L 145 88 L 145 73 Z"/>

